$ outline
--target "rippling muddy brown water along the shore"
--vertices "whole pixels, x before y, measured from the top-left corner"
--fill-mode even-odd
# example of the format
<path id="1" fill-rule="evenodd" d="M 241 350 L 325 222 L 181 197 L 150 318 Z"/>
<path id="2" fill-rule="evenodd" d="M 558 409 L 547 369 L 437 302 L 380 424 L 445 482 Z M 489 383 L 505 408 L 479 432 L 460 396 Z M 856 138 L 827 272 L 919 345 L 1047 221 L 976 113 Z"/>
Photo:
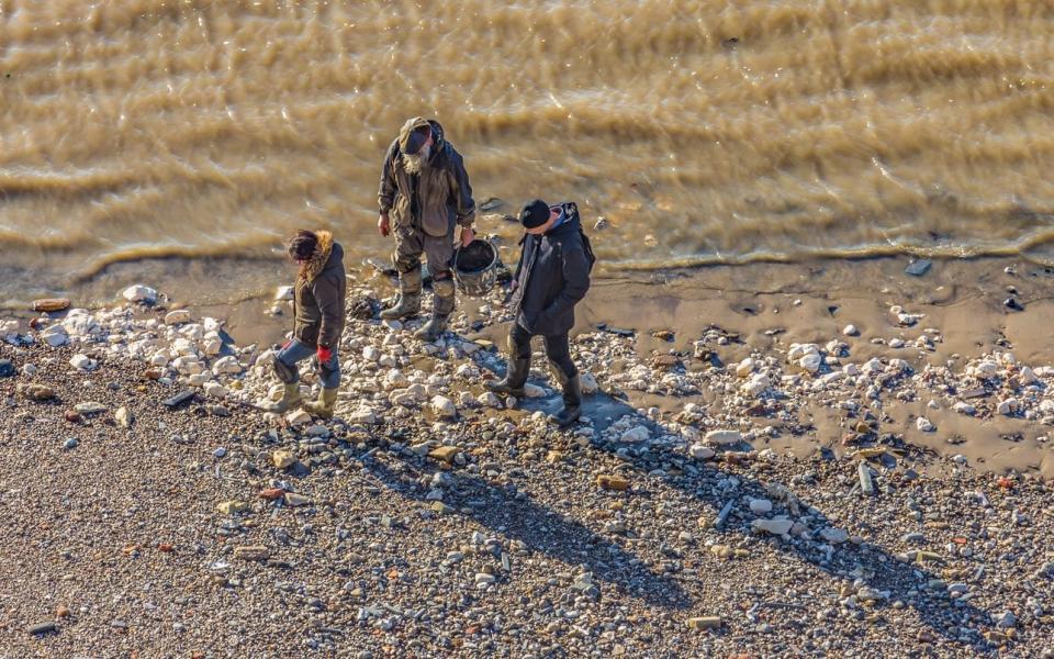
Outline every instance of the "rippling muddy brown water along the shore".
<path id="1" fill-rule="evenodd" d="M 383 256 L 380 161 L 415 114 L 505 201 L 481 231 L 575 200 L 608 267 L 1051 263 L 1052 32 L 1013 0 L 0 0 L 0 300 L 127 261 L 259 290 L 302 226 Z"/>

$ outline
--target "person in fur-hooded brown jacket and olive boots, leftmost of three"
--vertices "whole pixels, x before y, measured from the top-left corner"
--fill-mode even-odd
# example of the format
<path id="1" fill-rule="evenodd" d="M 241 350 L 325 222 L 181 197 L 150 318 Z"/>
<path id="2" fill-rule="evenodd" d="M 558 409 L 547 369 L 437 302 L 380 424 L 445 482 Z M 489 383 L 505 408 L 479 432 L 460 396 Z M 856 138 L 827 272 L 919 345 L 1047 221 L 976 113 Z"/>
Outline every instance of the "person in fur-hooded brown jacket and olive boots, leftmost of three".
<path id="1" fill-rule="evenodd" d="M 274 356 L 274 373 L 285 391 L 280 401 L 266 409 L 282 413 L 302 403 L 296 364 L 315 355 L 322 370 L 322 391 L 317 401 L 304 404 L 304 410 L 329 418 L 340 387 L 337 351 L 348 290 L 344 248 L 328 231 L 301 230 L 289 242 L 288 252 L 300 265 L 293 292 L 293 338 Z"/>

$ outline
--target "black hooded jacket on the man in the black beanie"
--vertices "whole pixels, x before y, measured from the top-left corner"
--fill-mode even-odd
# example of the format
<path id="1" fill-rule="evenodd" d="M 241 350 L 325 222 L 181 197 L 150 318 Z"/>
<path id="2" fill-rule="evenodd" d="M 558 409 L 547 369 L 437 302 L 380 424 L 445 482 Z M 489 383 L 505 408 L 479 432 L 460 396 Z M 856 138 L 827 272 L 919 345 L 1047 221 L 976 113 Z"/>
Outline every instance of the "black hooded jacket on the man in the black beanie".
<path id="1" fill-rule="evenodd" d="M 516 323 L 531 334 L 552 336 L 574 326 L 574 305 L 590 290 L 592 254 L 582 238 L 573 203 L 561 204 L 565 219 L 548 233 L 526 234 L 511 299 Z"/>

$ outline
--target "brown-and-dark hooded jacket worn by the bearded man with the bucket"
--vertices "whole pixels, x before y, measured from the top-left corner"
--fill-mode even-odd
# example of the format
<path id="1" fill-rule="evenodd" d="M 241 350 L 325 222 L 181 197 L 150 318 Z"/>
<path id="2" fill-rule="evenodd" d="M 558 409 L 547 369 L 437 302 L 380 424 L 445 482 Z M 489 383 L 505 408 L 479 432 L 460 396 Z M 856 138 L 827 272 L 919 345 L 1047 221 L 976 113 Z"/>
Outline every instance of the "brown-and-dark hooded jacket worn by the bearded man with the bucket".
<path id="1" fill-rule="evenodd" d="M 403 165 L 402 148 L 410 134 L 422 126 L 431 127 L 431 156 L 421 174 L 411 175 Z M 439 122 L 415 116 L 403 124 L 384 156 L 378 204 L 381 213 L 391 213 L 395 228 L 414 227 L 439 237 L 451 235 L 455 223 L 472 226 L 475 202 L 469 175 L 461 154 L 444 139 Z"/>

